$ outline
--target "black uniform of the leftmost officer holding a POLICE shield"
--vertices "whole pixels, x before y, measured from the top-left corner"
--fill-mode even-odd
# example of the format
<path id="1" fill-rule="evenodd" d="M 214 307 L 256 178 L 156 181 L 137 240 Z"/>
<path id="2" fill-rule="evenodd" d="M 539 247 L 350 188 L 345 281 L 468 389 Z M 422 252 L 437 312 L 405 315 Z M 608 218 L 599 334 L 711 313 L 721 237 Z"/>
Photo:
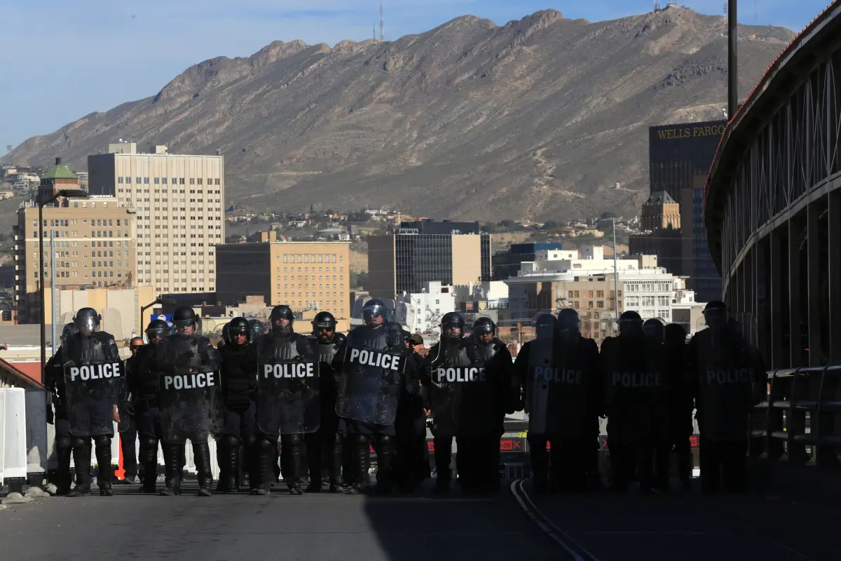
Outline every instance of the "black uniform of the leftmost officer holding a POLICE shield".
<path id="1" fill-rule="evenodd" d="M 45 368 L 45 387 L 54 394 L 56 408 L 56 456 L 58 458 L 57 489 L 60 494 L 81 496 L 91 492 L 91 440 L 96 447 L 98 484 L 100 495 L 111 495 L 111 439 L 114 430 L 111 427 L 114 408 L 117 403 L 73 404 L 68 396 L 64 367 L 69 364 L 84 363 L 122 363 L 119 350 L 114 343 L 114 336 L 104 331 L 94 332 L 91 336 L 75 333 L 67 337 L 56 355 L 50 358 Z M 121 400 L 123 396 L 119 396 Z M 72 410 L 82 407 L 84 411 Z M 99 434 L 77 436 L 71 430 L 74 421 L 71 416 L 82 415 L 89 426 L 100 427 Z M 95 431 L 94 431 L 95 432 Z M 90 431 L 86 433 L 89 434 Z M 76 466 L 77 486 L 70 490 L 70 456 Z"/>

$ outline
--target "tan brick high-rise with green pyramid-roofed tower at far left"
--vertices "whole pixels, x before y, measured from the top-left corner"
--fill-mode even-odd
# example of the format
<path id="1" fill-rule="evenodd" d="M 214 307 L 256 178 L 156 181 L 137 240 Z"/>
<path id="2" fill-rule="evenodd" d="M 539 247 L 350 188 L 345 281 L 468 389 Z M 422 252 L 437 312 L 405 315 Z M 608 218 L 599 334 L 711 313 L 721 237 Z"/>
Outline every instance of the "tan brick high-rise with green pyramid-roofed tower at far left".
<path id="1" fill-rule="evenodd" d="M 78 188 L 77 177 L 56 161 L 41 180 L 40 193 L 51 197 L 55 190 Z M 135 214 L 117 199 L 59 198 L 44 208 L 45 288 L 50 288 L 53 263 L 56 287 L 132 288 L 136 283 Z M 34 201 L 18 209 L 14 235 L 14 302 L 19 323 L 40 321 L 40 262 L 38 205 Z M 50 256 L 50 236 L 55 250 Z"/>

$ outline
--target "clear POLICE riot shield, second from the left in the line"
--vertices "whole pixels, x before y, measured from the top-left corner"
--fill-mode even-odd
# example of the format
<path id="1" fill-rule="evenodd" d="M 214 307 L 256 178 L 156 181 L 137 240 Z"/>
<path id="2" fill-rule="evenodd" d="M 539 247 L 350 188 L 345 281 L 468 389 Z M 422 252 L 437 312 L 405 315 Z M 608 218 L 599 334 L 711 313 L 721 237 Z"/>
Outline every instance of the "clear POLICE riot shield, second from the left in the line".
<path id="1" fill-rule="evenodd" d="M 167 442 L 205 442 L 222 431 L 219 357 L 213 347 L 199 350 L 193 341 L 170 336 L 155 350 L 156 368 L 161 368 L 161 431 Z"/>

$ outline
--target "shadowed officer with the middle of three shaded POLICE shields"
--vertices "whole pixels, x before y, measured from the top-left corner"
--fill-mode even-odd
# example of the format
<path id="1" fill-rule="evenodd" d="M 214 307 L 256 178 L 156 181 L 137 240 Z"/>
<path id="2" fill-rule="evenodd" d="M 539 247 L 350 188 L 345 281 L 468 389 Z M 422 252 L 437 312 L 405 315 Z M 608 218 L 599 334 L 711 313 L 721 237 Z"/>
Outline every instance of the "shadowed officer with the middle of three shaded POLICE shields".
<path id="1" fill-rule="evenodd" d="M 601 347 L 606 378 L 608 447 L 611 453 L 611 487 L 627 490 L 634 479 L 637 458 L 653 458 L 653 442 L 665 430 L 662 419 L 666 388 L 662 346 L 643 331 L 635 311 L 619 317 L 619 336 Z M 653 486 L 648 461 L 641 483 Z"/>

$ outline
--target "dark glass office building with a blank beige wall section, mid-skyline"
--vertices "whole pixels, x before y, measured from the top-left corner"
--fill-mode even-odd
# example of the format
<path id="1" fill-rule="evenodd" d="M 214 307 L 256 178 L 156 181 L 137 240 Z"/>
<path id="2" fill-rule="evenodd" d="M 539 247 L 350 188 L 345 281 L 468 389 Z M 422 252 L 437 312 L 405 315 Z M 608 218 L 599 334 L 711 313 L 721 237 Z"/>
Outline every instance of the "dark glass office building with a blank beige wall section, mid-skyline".
<path id="1" fill-rule="evenodd" d="M 368 238 L 368 284 L 374 298 L 420 293 L 426 283 L 489 281 L 490 236 L 478 222 L 404 222 L 392 236 Z"/>

